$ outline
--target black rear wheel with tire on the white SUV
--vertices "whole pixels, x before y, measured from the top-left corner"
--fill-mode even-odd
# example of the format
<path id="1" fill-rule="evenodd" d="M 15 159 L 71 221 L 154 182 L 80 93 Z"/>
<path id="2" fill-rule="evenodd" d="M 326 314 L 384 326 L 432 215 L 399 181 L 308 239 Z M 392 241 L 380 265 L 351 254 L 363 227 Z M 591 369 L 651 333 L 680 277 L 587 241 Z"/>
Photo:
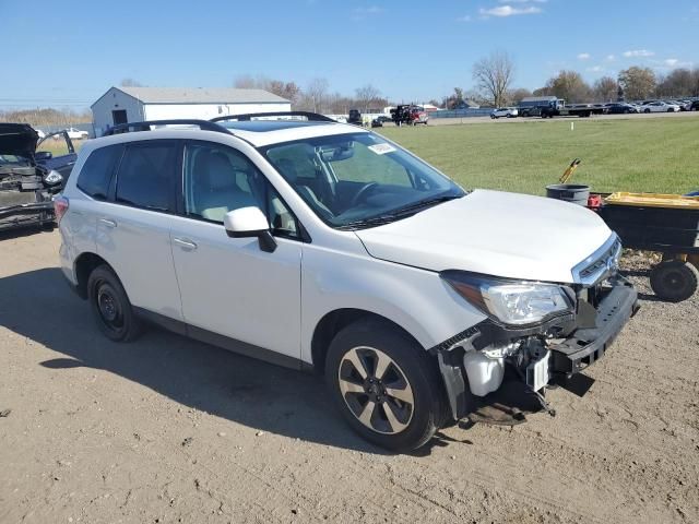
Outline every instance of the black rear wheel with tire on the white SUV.
<path id="1" fill-rule="evenodd" d="M 105 336 L 115 342 L 131 342 L 141 334 L 141 322 L 117 275 L 106 264 L 87 278 L 87 298 Z"/>

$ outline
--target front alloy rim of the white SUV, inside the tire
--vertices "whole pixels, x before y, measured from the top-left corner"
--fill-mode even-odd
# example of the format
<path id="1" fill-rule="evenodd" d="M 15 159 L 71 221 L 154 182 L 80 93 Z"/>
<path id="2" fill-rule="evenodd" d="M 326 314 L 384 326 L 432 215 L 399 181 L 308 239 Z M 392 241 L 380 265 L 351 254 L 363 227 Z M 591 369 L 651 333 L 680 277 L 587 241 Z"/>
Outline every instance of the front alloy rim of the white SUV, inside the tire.
<path id="1" fill-rule="evenodd" d="M 350 349 L 340 362 L 337 380 L 345 404 L 370 430 L 395 434 L 411 422 L 413 389 L 386 353 L 372 347 Z"/>

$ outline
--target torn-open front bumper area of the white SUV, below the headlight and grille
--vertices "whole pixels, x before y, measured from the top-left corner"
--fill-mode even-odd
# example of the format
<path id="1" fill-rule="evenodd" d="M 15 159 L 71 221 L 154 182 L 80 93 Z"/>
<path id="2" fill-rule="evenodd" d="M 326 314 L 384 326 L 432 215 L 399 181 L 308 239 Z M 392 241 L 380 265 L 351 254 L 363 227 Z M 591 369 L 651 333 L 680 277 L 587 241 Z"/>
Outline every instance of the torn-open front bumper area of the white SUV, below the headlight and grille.
<path id="1" fill-rule="evenodd" d="M 498 413 L 518 415 L 509 417 L 512 420 L 523 419 L 522 413 L 542 408 L 553 414 L 544 401 L 543 386 L 565 384 L 574 373 L 602 358 L 637 310 L 636 289 L 625 278 L 615 276 L 600 289 L 594 306 L 579 298 L 574 312 L 524 329 L 488 319 L 433 348 L 453 418 L 460 420 L 494 405 L 499 406 Z M 497 352 L 499 357 L 488 368 L 485 356 Z M 474 356 L 481 359 L 477 365 L 488 380 L 500 373 L 495 391 L 470 384 L 464 362 L 472 366 Z M 508 416 L 503 416 L 499 424 L 508 424 L 507 420 Z"/>

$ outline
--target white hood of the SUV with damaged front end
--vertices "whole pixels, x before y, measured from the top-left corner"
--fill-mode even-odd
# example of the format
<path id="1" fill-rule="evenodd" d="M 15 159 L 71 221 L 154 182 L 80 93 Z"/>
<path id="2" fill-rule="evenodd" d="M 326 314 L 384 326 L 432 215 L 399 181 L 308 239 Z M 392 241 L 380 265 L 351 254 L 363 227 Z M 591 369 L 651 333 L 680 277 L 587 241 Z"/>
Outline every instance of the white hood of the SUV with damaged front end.
<path id="1" fill-rule="evenodd" d="M 570 283 L 572 267 L 612 231 L 580 205 L 476 190 L 356 235 L 371 257 L 386 261 L 437 272 Z"/>

